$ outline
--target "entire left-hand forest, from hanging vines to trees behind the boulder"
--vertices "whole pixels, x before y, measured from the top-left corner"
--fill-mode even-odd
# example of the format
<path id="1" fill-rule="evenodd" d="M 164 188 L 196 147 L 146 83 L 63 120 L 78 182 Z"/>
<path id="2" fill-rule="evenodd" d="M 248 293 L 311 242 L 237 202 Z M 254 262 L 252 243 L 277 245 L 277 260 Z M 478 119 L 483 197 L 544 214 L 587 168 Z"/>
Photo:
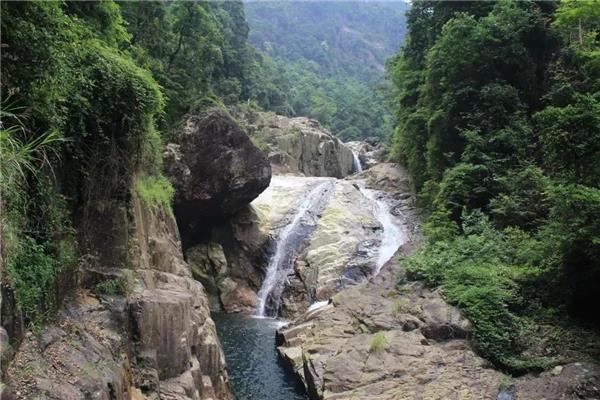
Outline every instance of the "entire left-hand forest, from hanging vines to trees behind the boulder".
<path id="1" fill-rule="evenodd" d="M 2 258 L 26 324 L 56 307 L 111 199 L 135 181 L 169 205 L 162 142 L 184 115 L 285 101 L 247 35 L 235 1 L 2 3 Z"/>

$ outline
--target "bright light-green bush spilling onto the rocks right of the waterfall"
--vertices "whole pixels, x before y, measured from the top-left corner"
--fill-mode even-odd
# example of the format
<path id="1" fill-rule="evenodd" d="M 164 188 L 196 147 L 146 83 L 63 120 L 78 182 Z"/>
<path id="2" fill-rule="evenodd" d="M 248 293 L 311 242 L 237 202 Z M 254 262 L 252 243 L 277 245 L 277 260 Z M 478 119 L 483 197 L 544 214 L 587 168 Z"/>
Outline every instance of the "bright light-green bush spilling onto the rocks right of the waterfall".
<path id="1" fill-rule="evenodd" d="M 463 216 L 463 235 L 430 241 L 403 260 L 407 276 L 441 285 L 448 301 L 459 306 L 473 323 L 479 351 L 498 365 L 516 368 L 521 362 L 519 282 L 535 274 L 517 255 L 529 237 L 512 239 L 516 233 L 493 228 L 481 212 Z M 530 360 L 531 361 L 531 360 Z M 521 364 L 524 364 L 521 362 Z M 530 362 L 532 368 L 534 362 Z"/>

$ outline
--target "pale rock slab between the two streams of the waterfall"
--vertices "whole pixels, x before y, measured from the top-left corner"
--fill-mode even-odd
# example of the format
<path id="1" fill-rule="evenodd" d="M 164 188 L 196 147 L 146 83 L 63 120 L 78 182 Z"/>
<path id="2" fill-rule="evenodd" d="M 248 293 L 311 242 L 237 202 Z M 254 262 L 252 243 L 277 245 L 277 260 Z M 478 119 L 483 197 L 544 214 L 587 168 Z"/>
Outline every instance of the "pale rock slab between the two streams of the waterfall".
<path id="1" fill-rule="evenodd" d="M 281 314 L 290 318 L 315 301 L 372 274 L 381 225 L 373 204 L 356 184 L 336 181 L 316 229 L 307 238 L 288 277 Z M 260 198 L 258 199 L 260 201 Z"/>

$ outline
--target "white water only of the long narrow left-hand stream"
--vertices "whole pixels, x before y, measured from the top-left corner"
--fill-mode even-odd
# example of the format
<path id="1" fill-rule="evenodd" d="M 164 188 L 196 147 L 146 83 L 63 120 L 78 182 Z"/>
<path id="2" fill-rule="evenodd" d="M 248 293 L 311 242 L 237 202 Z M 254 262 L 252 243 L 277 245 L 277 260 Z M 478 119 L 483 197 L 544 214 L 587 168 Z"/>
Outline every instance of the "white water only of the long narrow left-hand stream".
<path id="1" fill-rule="evenodd" d="M 315 185 L 310 192 L 304 195 L 302 202 L 298 205 L 296 214 L 294 215 L 292 221 L 279 232 L 279 237 L 277 238 L 277 244 L 275 246 L 275 253 L 269 261 L 265 280 L 263 281 L 260 291 L 258 292 L 259 302 L 258 307 L 256 308 L 256 315 L 265 315 L 269 295 L 278 283 L 278 276 L 282 275 L 282 271 L 280 271 L 282 268 L 281 264 L 284 261 L 287 252 L 290 251 L 289 242 L 291 235 L 296 231 L 297 228 L 301 226 L 303 222 L 305 222 L 306 217 L 311 216 L 311 209 L 317 205 L 331 184 L 332 183 L 329 180 L 319 183 Z M 283 266 L 283 268 L 287 267 Z"/>

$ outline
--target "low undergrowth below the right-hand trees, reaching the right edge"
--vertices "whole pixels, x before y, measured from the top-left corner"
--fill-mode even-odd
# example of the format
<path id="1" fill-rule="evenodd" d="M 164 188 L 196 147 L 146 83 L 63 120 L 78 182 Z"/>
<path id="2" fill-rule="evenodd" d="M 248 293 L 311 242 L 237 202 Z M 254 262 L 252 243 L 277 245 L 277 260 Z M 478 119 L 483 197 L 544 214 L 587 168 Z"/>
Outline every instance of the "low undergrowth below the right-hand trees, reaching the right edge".
<path id="1" fill-rule="evenodd" d="M 463 216 L 463 234 L 444 238 L 440 233 L 447 232 L 444 224 L 437 221 L 435 227 L 429 241 L 402 260 L 401 268 L 409 279 L 443 287 L 446 299 L 473 323 L 474 344 L 481 355 L 517 374 L 545 370 L 573 356 L 566 354 L 566 343 L 561 342 L 570 341 L 572 335 L 566 332 L 579 327 L 572 324 L 563 328 L 562 338 L 556 334 L 551 338 L 556 329 L 550 327 L 567 317 L 560 309 L 551 316 L 536 291 L 550 279 L 548 243 L 516 228 L 497 230 L 477 211 Z M 425 232 L 428 229 L 431 225 L 426 224 Z M 548 317 L 543 329 L 536 317 L 541 313 Z M 600 342 L 597 333 L 587 338 Z M 598 349 L 581 348 L 600 354 Z"/>

